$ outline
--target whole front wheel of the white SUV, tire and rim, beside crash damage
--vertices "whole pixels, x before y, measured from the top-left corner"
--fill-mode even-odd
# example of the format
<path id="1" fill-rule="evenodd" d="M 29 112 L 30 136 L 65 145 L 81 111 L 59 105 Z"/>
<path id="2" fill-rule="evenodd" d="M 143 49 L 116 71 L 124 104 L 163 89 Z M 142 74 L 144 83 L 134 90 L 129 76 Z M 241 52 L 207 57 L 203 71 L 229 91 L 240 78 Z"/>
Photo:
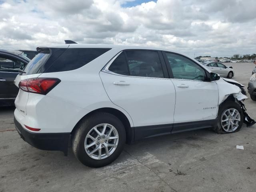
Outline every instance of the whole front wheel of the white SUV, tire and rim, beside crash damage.
<path id="1" fill-rule="evenodd" d="M 218 111 L 216 133 L 226 134 L 238 132 L 244 122 L 244 114 L 240 104 L 234 101 L 223 103 Z"/>

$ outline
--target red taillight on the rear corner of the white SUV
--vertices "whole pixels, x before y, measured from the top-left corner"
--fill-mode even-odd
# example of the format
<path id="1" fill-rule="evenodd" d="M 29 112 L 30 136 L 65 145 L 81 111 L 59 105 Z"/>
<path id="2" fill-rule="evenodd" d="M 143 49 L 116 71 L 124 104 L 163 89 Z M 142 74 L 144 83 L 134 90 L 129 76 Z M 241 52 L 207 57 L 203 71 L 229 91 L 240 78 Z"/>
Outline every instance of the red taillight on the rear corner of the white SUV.
<path id="1" fill-rule="evenodd" d="M 26 92 L 46 95 L 60 82 L 57 78 L 31 78 L 20 81 L 19 88 Z"/>

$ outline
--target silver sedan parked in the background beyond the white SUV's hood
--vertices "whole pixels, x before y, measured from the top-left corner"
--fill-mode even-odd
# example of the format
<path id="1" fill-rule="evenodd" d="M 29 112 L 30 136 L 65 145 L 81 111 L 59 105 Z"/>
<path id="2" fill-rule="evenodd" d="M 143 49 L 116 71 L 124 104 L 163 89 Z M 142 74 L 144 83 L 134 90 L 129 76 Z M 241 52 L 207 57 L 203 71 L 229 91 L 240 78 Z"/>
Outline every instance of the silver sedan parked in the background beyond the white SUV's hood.
<path id="1" fill-rule="evenodd" d="M 203 63 L 212 72 L 218 73 L 222 77 L 232 78 L 234 77 L 234 70 L 232 66 L 226 66 L 220 62 L 205 62 Z"/>

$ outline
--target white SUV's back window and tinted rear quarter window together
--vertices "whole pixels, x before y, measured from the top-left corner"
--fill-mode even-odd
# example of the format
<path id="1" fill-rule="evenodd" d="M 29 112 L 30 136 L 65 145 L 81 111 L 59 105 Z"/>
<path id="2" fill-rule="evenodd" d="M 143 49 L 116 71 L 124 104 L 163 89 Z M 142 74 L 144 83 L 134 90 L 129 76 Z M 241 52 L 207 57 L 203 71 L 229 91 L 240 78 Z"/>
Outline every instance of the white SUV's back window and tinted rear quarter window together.
<path id="1" fill-rule="evenodd" d="M 50 48 L 39 52 L 26 66 L 26 74 L 78 69 L 110 48 Z"/>

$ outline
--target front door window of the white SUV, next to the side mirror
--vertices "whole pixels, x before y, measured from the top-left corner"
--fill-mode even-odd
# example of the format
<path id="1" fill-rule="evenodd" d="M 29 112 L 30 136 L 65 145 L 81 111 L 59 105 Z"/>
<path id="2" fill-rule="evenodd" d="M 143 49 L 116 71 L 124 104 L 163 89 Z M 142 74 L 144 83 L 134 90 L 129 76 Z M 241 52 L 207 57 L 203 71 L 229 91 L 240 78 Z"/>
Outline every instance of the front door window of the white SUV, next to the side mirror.
<path id="1" fill-rule="evenodd" d="M 166 53 L 172 73 L 175 79 L 205 80 L 206 74 L 203 68 L 184 56 Z"/>

